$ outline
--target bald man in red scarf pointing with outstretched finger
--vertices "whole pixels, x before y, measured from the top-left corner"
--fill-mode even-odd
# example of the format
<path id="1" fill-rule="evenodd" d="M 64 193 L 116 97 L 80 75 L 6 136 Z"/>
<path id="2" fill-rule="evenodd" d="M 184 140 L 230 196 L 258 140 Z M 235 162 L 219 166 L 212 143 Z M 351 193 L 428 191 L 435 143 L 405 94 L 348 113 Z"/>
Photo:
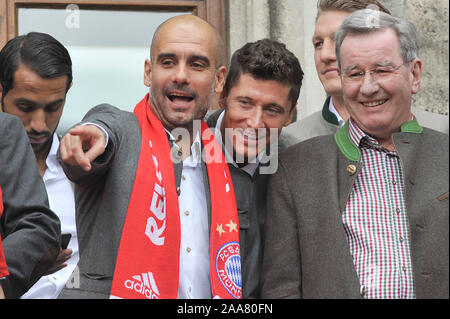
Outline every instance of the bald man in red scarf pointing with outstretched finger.
<path id="1" fill-rule="evenodd" d="M 222 91 L 223 52 L 202 19 L 169 19 L 153 37 L 150 93 L 134 113 L 99 105 L 62 139 L 79 200 L 80 286 L 61 298 L 241 297 L 233 184 L 200 121 Z"/>

